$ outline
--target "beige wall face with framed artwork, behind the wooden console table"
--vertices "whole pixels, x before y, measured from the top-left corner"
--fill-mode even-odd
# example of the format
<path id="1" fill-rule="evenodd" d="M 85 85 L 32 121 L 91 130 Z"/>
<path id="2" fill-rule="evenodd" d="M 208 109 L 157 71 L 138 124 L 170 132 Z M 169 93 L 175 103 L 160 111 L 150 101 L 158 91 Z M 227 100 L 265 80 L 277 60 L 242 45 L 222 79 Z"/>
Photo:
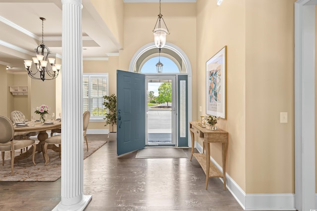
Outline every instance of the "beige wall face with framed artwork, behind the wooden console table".
<path id="1" fill-rule="evenodd" d="M 206 62 L 227 45 L 226 120 L 218 126 L 229 132 L 227 173 L 245 191 L 245 0 L 197 1 L 197 117 L 206 115 Z M 220 21 L 221 20 L 221 21 Z M 200 83 L 198 83 L 200 82 Z M 202 145 L 202 140 L 200 140 Z M 221 145 L 211 144 L 221 165 Z"/>

